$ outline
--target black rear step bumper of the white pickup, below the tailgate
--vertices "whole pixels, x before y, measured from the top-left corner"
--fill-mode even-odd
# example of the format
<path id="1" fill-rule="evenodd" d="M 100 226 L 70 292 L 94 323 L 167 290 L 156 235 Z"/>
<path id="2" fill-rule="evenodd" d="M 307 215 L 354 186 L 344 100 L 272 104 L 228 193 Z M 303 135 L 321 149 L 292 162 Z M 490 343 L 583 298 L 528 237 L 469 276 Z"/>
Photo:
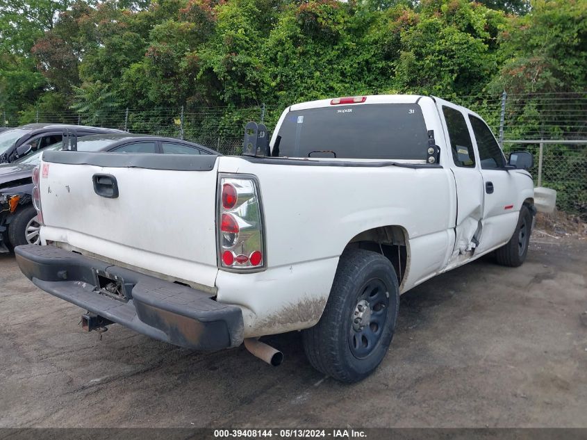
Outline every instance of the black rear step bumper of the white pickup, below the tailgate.
<path id="1" fill-rule="evenodd" d="M 47 293 L 152 338 L 196 350 L 242 343 L 242 312 L 213 295 L 53 246 L 15 248 L 20 270 Z M 122 279 L 126 300 L 101 291 L 97 272 Z"/>

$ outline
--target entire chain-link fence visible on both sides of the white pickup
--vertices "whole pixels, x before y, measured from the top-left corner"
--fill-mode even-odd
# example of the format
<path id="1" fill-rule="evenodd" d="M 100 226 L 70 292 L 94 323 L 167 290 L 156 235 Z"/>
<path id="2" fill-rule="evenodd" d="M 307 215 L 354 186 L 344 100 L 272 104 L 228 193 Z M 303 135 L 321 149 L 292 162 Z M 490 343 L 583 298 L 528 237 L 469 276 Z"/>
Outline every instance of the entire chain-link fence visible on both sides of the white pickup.
<path id="1" fill-rule="evenodd" d="M 587 92 L 518 95 L 504 92 L 447 99 L 479 113 L 499 138 L 504 152 L 525 150 L 534 154 L 531 172 L 535 184 L 540 181 L 542 186 L 556 189 L 559 209 L 579 213 L 587 219 Z M 28 111 L 4 115 L 3 121 L 15 125 L 28 122 L 89 124 L 183 138 L 222 154 L 240 154 L 247 121 L 264 122 L 271 131 L 281 111 L 282 106 L 265 104 L 247 108 L 121 108 L 98 115 Z"/>

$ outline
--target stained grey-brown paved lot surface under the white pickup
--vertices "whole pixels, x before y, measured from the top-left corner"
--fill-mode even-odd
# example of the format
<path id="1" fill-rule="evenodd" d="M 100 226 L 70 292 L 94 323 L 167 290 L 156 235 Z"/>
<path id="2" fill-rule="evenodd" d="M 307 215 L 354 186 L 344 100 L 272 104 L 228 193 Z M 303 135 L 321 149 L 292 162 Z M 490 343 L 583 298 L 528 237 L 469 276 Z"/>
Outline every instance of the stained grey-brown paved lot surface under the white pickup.
<path id="1" fill-rule="evenodd" d="M 585 427 L 585 310 L 587 241 L 534 238 L 521 268 L 482 259 L 403 295 L 388 356 L 349 386 L 308 365 L 297 333 L 267 339 L 278 368 L 85 334 L 81 309 L 0 255 L 0 426 Z"/>

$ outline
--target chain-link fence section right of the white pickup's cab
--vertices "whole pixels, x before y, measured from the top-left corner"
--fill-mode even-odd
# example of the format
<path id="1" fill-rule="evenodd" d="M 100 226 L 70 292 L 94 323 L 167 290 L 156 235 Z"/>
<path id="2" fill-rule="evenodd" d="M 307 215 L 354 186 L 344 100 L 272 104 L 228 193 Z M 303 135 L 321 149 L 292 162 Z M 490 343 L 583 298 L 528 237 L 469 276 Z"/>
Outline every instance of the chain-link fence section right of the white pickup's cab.
<path id="1" fill-rule="evenodd" d="M 587 92 L 460 97 L 499 136 L 504 152 L 534 155 L 536 186 L 557 191 L 561 211 L 587 220 Z"/>

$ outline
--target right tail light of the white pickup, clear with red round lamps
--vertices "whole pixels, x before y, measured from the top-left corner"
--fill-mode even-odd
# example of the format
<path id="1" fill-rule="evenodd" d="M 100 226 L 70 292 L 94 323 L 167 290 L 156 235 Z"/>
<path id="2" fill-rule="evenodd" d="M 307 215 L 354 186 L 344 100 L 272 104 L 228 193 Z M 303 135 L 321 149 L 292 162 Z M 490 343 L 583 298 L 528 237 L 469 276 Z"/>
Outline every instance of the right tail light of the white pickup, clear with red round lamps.
<path id="1" fill-rule="evenodd" d="M 263 209 L 256 178 L 220 174 L 218 193 L 218 267 L 235 272 L 265 268 Z"/>

